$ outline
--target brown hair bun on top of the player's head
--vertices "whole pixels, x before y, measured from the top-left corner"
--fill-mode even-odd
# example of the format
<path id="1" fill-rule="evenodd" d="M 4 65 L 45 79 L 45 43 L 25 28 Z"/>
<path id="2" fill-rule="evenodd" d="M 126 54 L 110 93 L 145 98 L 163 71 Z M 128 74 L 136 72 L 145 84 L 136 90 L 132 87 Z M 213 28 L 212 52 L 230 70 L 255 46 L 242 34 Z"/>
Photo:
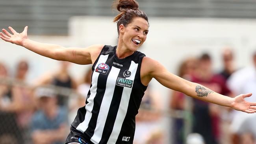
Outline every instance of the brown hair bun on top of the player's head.
<path id="1" fill-rule="evenodd" d="M 139 9 L 139 4 L 135 0 L 117 0 L 117 10 L 120 12 L 127 11 L 127 9 Z"/>

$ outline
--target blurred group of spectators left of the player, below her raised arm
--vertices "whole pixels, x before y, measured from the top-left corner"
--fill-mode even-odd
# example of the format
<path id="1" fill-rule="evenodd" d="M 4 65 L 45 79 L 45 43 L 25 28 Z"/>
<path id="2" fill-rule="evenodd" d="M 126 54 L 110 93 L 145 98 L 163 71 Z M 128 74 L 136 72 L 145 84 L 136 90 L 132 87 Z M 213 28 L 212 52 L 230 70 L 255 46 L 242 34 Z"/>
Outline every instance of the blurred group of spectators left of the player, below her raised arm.
<path id="1" fill-rule="evenodd" d="M 28 84 L 28 61 L 19 61 L 14 78 L 0 63 L 0 144 L 63 144 L 77 109 L 85 105 L 91 70 L 75 81 L 70 63 L 59 65 Z"/>

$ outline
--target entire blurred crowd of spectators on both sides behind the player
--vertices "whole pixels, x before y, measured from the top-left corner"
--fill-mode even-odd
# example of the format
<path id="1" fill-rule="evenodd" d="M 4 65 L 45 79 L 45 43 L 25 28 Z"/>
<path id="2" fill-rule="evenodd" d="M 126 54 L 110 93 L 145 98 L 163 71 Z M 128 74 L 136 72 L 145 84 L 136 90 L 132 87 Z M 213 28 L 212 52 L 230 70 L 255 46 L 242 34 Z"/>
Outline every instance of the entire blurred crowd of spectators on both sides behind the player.
<path id="1" fill-rule="evenodd" d="M 210 54 L 187 57 L 177 75 L 200 83 L 220 94 L 234 97 L 256 93 L 256 53 L 253 65 L 237 68 L 234 52 L 224 48 L 223 68 L 216 72 Z M 15 76 L 0 62 L 0 144 L 63 144 L 78 108 L 85 105 L 91 85 L 91 69 L 75 80 L 69 73 L 69 62 L 44 74 L 28 85 L 29 62 L 20 60 Z M 255 91 L 255 92 L 254 92 Z M 171 144 L 256 144 L 255 114 L 234 111 L 171 91 L 168 113 L 171 114 Z M 134 144 L 166 144 L 161 129 L 164 117 L 159 92 L 148 86 L 136 117 Z M 256 102 L 253 95 L 246 99 Z"/>

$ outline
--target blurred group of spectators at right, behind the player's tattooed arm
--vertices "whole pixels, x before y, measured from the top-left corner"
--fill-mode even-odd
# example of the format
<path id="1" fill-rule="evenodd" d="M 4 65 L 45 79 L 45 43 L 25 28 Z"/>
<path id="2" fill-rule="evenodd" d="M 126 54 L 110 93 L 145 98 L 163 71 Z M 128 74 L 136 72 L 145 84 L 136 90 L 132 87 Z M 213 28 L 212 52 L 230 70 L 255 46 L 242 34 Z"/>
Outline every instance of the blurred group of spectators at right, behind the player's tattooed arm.
<path id="1" fill-rule="evenodd" d="M 185 59 L 178 70 L 178 76 L 192 82 L 200 83 L 211 90 L 225 96 L 234 97 L 239 94 L 255 94 L 256 89 L 256 53 L 252 54 L 253 65 L 237 68 L 234 52 L 225 48 L 222 52 L 223 68 L 213 70 L 210 54 Z M 246 99 L 256 102 L 256 97 Z M 187 119 L 174 118 L 173 144 L 256 144 L 256 127 L 253 120 L 255 114 L 235 111 L 201 100 L 189 100 L 185 94 L 173 91 L 170 107 L 176 110 L 188 110 L 191 114 Z M 186 131 L 186 123 L 191 129 Z"/>

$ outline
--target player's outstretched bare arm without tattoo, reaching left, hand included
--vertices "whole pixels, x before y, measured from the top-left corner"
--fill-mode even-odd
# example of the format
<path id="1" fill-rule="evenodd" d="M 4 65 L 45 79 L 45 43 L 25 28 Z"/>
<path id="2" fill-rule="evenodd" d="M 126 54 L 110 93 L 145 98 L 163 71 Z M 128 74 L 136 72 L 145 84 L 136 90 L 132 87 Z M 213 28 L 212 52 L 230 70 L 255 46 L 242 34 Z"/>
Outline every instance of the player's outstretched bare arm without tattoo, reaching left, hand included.
<path id="1" fill-rule="evenodd" d="M 11 27 L 8 28 L 13 34 L 3 29 L 3 33 L 0 33 L 0 38 L 4 41 L 23 46 L 28 50 L 51 59 L 70 61 L 80 65 L 94 63 L 104 46 L 102 44 L 95 44 L 88 48 L 65 48 L 56 44 L 41 43 L 28 39 L 28 26 L 24 28 L 22 33 L 17 33 Z"/>

